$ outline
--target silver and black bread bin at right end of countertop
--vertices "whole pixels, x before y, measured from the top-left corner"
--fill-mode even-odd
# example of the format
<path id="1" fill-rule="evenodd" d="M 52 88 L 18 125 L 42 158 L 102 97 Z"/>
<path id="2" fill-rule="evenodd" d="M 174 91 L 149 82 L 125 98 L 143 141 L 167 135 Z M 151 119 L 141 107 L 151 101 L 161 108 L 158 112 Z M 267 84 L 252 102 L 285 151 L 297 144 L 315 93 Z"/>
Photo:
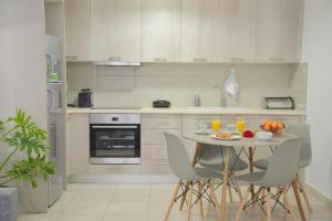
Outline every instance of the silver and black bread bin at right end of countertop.
<path id="1" fill-rule="evenodd" d="M 291 97 L 263 97 L 262 107 L 266 109 L 293 109 L 294 101 Z"/>

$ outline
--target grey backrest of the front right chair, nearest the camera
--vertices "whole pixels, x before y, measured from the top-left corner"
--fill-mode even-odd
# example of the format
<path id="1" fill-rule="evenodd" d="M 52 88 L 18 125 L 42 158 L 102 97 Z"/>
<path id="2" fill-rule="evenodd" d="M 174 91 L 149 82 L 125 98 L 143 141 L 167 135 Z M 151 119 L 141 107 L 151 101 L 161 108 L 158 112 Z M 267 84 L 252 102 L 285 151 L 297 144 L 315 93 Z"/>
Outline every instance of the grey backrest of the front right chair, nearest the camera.
<path id="1" fill-rule="evenodd" d="M 300 162 L 301 139 L 288 139 L 274 150 L 268 169 L 257 185 L 283 187 L 295 177 Z"/>

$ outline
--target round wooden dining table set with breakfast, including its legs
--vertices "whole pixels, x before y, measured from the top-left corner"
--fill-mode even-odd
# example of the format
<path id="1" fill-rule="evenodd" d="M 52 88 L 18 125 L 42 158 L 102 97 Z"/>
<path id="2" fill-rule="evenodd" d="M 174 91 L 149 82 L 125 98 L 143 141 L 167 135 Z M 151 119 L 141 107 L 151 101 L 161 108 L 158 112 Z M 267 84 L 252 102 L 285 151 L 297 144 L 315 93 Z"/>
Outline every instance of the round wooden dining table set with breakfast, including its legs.
<path id="1" fill-rule="evenodd" d="M 271 147 L 278 147 L 282 141 L 295 138 L 293 135 L 279 133 L 274 134 L 271 140 L 260 140 L 256 137 L 252 138 L 245 138 L 240 137 L 238 139 L 217 139 L 214 137 L 214 135 L 210 134 L 197 134 L 196 131 L 189 131 L 184 134 L 184 138 L 195 141 L 196 143 L 196 149 L 194 154 L 194 158 L 191 160 L 191 166 L 195 167 L 197 160 L 199 159 L 200 152 L 204 148 L 204 145 L 214 145 L 216 148 L 222 148 L 224 152 L 224 167 L 221 169 L 221 179 L 222 179 L 222 189 L 221 189 L 221 197 L 220 197 L 220 215 L 219 219 L 225 221 L 226 220 L 226 197 L 227 197 L 227 183 L 229 182 L 229 167 L 230 167 L 230 148 L 231 147 L 240 147 L 246 152 L 248 152 L 248 160 L 249 160 L 249 172 L 253 172 L 253 154 L 256 148 L 271 148 Z M 298 208 L 300 210 L 300 214 L 302 220 L 305 220 L 305 217 L 303 215 L 303 208 L 301 204 L 299 191 L 297 189 L 297 186 L 292 183 L 295 200 L 298 203 Z M 251 194 L 253 194 L 253 186 L 251 186 Z M 303 219 L 304 218 L 304 219 Z"/>

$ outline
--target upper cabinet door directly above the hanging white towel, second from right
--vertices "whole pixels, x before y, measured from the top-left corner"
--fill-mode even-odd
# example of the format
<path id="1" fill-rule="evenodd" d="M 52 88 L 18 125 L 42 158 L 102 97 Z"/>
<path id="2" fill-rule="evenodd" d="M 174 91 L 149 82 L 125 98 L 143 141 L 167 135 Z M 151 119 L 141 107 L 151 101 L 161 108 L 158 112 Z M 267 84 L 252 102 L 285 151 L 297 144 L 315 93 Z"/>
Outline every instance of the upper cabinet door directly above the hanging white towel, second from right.
<path id="1" fill-rule="evenodd" d="M 218 62 L 256 61 L 257 0 L 220 0 Z"/>

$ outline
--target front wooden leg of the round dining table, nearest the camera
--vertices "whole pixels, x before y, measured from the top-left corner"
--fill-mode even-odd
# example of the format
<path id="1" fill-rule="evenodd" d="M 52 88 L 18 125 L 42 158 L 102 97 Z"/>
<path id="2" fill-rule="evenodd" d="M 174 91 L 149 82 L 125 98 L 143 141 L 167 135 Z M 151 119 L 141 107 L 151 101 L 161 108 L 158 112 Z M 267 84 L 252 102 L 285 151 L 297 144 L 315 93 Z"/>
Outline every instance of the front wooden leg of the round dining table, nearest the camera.
<path id="1" fill-rule="evenodd" d="M 226 220 L 226 196 L 227 196 L 227 183 L 228 183 L 228 175 L 229 175 L 229 160 L 230 160 L 230 147 L 226 148 L 226 156 L 224 162 L 224 171 L 222 171 L 222 190 L 221 190 L 221 203 L 220 203 L 220 218 L 222 221 Z"/>

